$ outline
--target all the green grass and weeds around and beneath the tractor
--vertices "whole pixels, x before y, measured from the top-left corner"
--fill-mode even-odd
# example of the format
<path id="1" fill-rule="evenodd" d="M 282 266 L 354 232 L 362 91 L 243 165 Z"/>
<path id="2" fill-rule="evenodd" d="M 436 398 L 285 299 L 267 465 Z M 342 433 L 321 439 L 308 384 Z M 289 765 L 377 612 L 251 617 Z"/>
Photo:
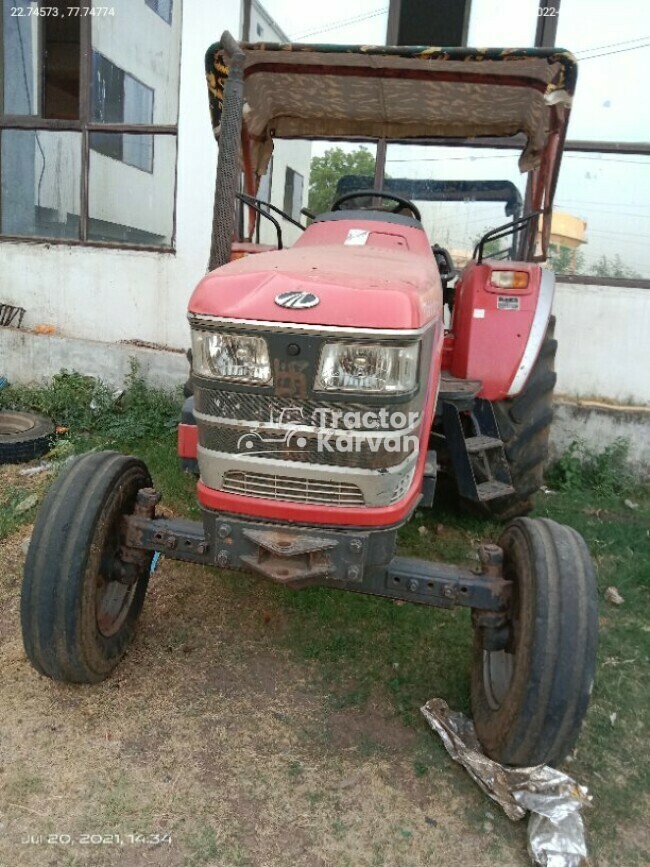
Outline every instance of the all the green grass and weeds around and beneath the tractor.
<path id="1" fill-rule="evenodd" d="M 165 501 L 188 517 L 199 512 L 194 480 L 178 468 L 175 427 L 178 394 L 147 389 L 133 371 L 119 402 L 101 384 L 62 374 L 51 389 L 6 389 L 5 406 L 33 407 L 66 424 L 70 433 L 63 451 L 116 448 L 137 454 L 149 466 Z M 90 403 L 95 399 L 94 406 Z M 555 493 L 540 495 L 536 514 L 570 524 L 585 537 L 598 569 L 600 599 L 599 665 L 591 707 L 567 770 L 594 796 L 585 817 L 594 855 L 617 853 L 617 863 L 642 863 L 627 830 L 641 822 L 650 779 L 647 762 L 647 678 L 650 657 L 650 489 L 635 484 L 626 465 L 624 444 L 600 455 L 574 446 L 549 475 Z M 9 487 L 0 499 L 0 538 L 33 519 L 33 510 L 17 516 L 24 492 Z M 631 504 L 631 505 L 630 505 Z M 636 508 L 634 507 L 636 506 Z M 442 531 L 437 532 L 437 525 Z M 419 532 L 420 527 L 427 532 Z M 423 510 L 399 534 L 400 553 L 475 563 L 477 544 L 497 540 L 499 527 L 458 514 L 451 501 Z M 232 593 L 252 593 L 264 609 L 274 606 L 283 628 L 268 641 L 288 649 L 310 667 L 312 688 L 325 690 L 329 712 L 364 709 L 377 696 L 389 704 L 405 726 L 418 735 L 413 747 L 413 777 L 449 765 L 437 738 L 426 728 L 419 707 L 432 696 L 469 712 L 471 624 L 468 611 L 441 611 L 398 605 L 391 600 L 311 588 L 294 592 L 260 581 L 240 582 L 224 576 Z M 621 606 L 604 600 L 615 585 Z M 252 600 L 252 604 L 255 601 Z M 170 636 L 183 643 L 185 635 Z M 306 731 L 317 748 L 331 749 L 326 720 Z M 373 731 L 360 736 L 359 755 L 380 756 L 384 745 Z M 298 782 L 298 762 L 287 768 Z M 456 779 L 451 774 L 450 779 Z M 316 793 L 317 794 L 317 793 Z M 314 796 L 315 797 L 315 796 Z M 489 806 L 489 805 L 488 805 Z M 335 835 L 344 836 L 341 822 Z M 219 841 L 211 828 L 193 841 L 191 863 L 218 857 Z"/>

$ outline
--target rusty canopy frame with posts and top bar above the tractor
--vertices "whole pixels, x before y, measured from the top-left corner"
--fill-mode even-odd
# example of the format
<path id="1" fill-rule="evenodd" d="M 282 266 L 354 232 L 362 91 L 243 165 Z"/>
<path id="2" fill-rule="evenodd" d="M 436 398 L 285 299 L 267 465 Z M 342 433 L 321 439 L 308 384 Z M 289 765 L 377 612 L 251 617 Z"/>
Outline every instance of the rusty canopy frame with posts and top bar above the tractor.
<path id="1" fill-rule="evenodd" d="M 259 54 L 258 54 L 259 53 Z M 313 60 L 311 59 L 313 56 Z M 372 63 L 368 64 L 368 58 Z M 221 40 L 210 46 L 206 52 L 206 77 L 210 97 L 210 111 L 215 135 L 219 140 L 219 158 L 217 165 L 217 182 L 215 191 L 215 208 L 212 224 L 212 244 L 209 268 L 214 269 L 225 264 L 230 258 L 230 238 L 233 235 L 234 218 L 232 213 L 235 193 L 238 189 L 239 154 L 242 153 L 244 176 L 247 192 L 254 193 L 256 184 L 253 175 L 253 163 L 260 159 L 252 155 L 253 147 L 260 147 L 265 141 L 294 137 L 293 133 L 276 129 L 267 119 L 268 129 L 262 135 L 259 130 L 248 129 L 242 119 L 244 107 L 244 84 L 255 73 L 272 75 L 285 72 L 285 66 L 293 59 L 291 69 L 296 76 L 354 75 L 361 78 L 396 77 L 414 78 L 422 82 L 461 82 L 488 84 L 490 86 L 518 86 L 531 91 L 544 93 L 545 115 L 540 116 L 539 123 L 545 123 L 545 132 L 541 140 L 537 140 L 538 155 L 536 162 L 528 168 L 529 182 L 526 192 L 526 207 L 529 212 L 550 214 L 555 187 L 557 184 L 559 166 L 562 158 L 564 138 L 570 115 L 570 99 L 576 79 L 575 59 L 568 52 L 547 48 L 532 49 L 472 49 L 472 48 L 427 48 L 425 46 L 361 46 L 361 45 L 330 45 L 330 44 L 290 44 L 276 43 L 243 43 L 240 44 L 230 33 L 225 32 Z M 553 65 L 552 75 L 544 78 L 540 75 L 539 66 L 536 74 L 532 68 L 515 69 L 528 61 L 537 64 Z M 247 61 L 250 61 L 247 65 Z M 408 67 L 395 68 L 396 62 L 405 61 Z M 485 64 L 482 61 L 487 61 Z M 439 63 L 447 64 L 450 69 L 443 69 Z M 497 62 L 499 74 L 487 70 L 488 62 Z M 454 67 L 452 70 L 451 67 Z M 541 67 L 544 68 L 544 67 Z M 496 72 L 496 70 L 495 70 Z M 311 105 L 311 104 L 310 104 Z M 303 115 L 285 112 L 286 117 L 300 118 L 304 130 L 297 133 L 299 138 L 317 137 L 310 128 L 311 114 Z M 350 121 L 350 115 L 341 115 L 342 128 L 333 130 L 332 135 L 325 138 L 341 138 L 347 136 L 345 124 Z M 434 113 L 435 117 L 435 113 Z M 512 119 L 509 119 L 510 121 Z M 518 120 L 518 119 L 517 119 Z M 352 123 L 352 121 L 350 121 Z M 523 124 L 523 120 L 522 120 Z M 507 126 L 507 124 L 506 124 Z M 376 132 L 368 136 L 362 129 L 349 127 L 350 135 L 355 141 L 376 140 Z M 432 144 L 437 138 L 431 138 L 432 132 L 424 123 L 421 133 L 406 131 L 408 141 L 422 144 Z M 522 130 L 523 131 L 523 130 Z M 394 138 L 401 141 L 403 130 L 395 129 Z M 534 128 L 527 130 L 527 135 L 513 134 L 507 141 L 511 147 L 527 148 L 532 142 Z M 381 135 L 381 133 L 380 133 Z M 433 133 L 435 136 L 436 134 Z M 479 133 L 476 140 L 492 144 L 499 130 L 495 127 L 494 134 L 486 130 Z M 266 138 L 264 137 L 266 136 Z M 380 138 L 379 141 L 382 139 Z M 466 139 L 449 139 L 447 136 L 441 142 L 466 144 Z M 472 142 L 475 141 L 472 139 Z M 263 145 L 265 146 L 265 145 Z M 524 154 L 526 150 L 524 150 Z M 529 155 L 530 158 L 530 155 Z M 523 156 L 522 156 L 523 159 Z M 258 171 L 256 169 L 255 171 Z M 258 175 L 259 178 L 259 175 Z M 546 258 L 550 220 L 541 225 L 542 252 L 536 252 L 537 226 L 530 225 L 522 245 L 524 256 L 531 261 Z"/>

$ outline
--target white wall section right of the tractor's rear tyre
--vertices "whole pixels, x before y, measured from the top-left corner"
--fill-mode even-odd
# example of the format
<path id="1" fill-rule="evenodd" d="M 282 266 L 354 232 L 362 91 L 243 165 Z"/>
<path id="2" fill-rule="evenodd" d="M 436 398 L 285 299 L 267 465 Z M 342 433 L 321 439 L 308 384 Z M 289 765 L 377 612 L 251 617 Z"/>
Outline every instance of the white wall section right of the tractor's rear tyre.
<path id="1" fill-rule="evenodd" d="M 650 289 L 558 283 L 556 392 L 650 406 Z"/>

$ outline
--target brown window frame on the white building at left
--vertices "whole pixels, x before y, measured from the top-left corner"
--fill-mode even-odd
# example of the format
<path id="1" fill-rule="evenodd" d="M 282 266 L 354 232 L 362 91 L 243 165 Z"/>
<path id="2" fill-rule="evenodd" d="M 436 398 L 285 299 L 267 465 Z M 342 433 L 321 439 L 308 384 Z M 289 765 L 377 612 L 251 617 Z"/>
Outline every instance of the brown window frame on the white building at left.
<path id="1" fill-rule="evenodd" d="M 0 0 L 0 11 L 9 0 Z M 47 6 L 48 0 L 33 0 Z M 91 6 L 95 0 L 85 0 Z M 96 241 L 88 238 L 88 187 L 90 180 L 90 136 L 92 133 L 130 133 L 152 136 L 174 136 L 178 140 L 178 124 L 133 124 L 133 123 L 96 123 L 91 120 L 90 82 L 92 78 L 92 22 L 89 15 L 79 16 L 80 25 L 80 70 L 79 70 L 79 120 L 60 120 L 44 118 L 40 115 L 10 115 L 4 113 L 4 67 L 2 56 L 3 15 L 0 14 L 0 137 L 4 130 L 33 130 L 34 132 L 77 132 L 81 134 L 81 187 L 79 238 L 55 238 L 46 235 L 6 235 L 0 233 L 0 243 L 19 241 L 27 244 L 57 244 L 68 247 L 104 247 L 113 250 L 134 250 L 139 252 L 175 253 L 176 251 L 176 187 L 178 181 L 178 146 L 174 168 L 174 203 L 172 217 L 171 244 L 133 244 L 128 241 Z M 42 36 L 44 17 L 39 16 L 39 37 Z M 0 226 L 2 199 L 0 197 Z"/>

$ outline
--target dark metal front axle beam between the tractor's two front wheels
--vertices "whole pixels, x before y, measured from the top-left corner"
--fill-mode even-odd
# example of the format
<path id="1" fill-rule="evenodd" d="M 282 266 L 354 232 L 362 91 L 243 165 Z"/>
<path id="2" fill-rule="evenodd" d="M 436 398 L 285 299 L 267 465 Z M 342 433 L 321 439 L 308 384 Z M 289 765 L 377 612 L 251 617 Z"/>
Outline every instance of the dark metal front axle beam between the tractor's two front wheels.
<path id="1" fill-rule="evenodd" d="M 242 570 L 294 589 L 338 587 L 437 608 L 473 610 L 486 650 L 506 647 L 511 582 L 503 552 L 479 548 L 476 571 L 394 555 L 397 529 L 358 530 L 257 522 L 203 510 L 203 522 L 156 517 L 160 495 L 139 491 L 134 513 L 122 518 L 116 577 L 132 575 L 159 552 L 173 560 Z"/>

